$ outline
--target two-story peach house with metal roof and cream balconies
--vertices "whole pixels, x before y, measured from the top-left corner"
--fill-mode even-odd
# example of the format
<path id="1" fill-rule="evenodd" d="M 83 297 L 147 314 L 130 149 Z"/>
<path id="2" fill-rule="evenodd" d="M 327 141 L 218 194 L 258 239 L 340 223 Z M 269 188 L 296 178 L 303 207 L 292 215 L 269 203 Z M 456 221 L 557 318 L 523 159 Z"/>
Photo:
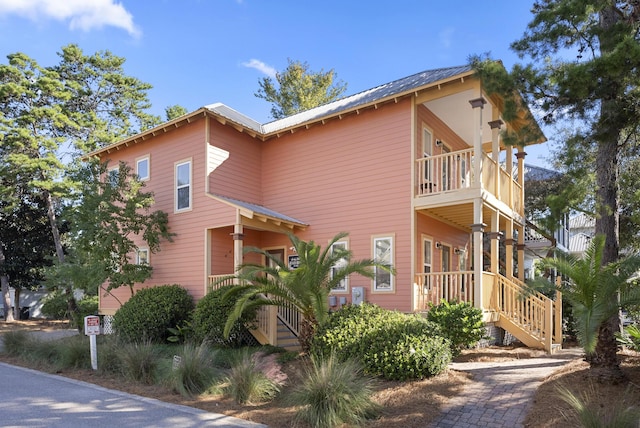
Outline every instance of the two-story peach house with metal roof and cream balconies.
<path id="1" fill-rule="evenodd" d="M 333 291 L 334 309 L 364 300 L 413 312 L 463 300 L 496 328 L 551 350 L 560 338 L 556 305 L 520 298 L 525 152 L 505 146 L 500 132 L 533 120 L 525 108 L 507 123 L 501 105 L 470 66 L 451 67 L 266 124 L 212 104 L 94 154 L 136 168 L 169 214 L 174 241 L 132 254 L 153 266 L 144 286 L 178 283 L 197 300 L 221 275 L 256 261 L 243 259 L 245 246 L 295 263 L 287 233 L 321 244 L 344 231 L 337 245 L 396 275 L 351 276 Z M 501 157 L 517 159 L 518 176 Z M 500 240 L 514 256 L 499 260 Z M 100 312 L 113 314 L 127 293 L 101 296 Z M 277 342 L 275 317 L 295 331 L 272 314 L 261 340 Z"/>

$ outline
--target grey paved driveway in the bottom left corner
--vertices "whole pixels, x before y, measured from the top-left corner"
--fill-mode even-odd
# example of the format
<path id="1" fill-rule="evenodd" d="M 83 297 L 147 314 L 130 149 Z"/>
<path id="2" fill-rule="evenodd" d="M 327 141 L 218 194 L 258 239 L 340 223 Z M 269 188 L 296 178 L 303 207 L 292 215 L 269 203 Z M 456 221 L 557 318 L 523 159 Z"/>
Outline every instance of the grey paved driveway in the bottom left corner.
<path id="1" fill-rule="evenodd" d="M 0 363 L 3 427 L 264 427 Z"/>

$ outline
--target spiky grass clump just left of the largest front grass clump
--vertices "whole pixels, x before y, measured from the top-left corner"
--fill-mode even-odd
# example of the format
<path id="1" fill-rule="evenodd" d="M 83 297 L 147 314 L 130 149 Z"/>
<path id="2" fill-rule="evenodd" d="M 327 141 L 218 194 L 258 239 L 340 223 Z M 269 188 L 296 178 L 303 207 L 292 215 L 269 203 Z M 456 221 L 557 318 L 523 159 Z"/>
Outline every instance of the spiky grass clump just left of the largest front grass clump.
<path id="1" fill-rule="evenodd" d="M 224 392 L 238 404 L 257 404 L 268 401 L 280 391 L 280 385 L 256 368 L 247 349 L 236 354 L 231 372 L 225 378 Z"/>

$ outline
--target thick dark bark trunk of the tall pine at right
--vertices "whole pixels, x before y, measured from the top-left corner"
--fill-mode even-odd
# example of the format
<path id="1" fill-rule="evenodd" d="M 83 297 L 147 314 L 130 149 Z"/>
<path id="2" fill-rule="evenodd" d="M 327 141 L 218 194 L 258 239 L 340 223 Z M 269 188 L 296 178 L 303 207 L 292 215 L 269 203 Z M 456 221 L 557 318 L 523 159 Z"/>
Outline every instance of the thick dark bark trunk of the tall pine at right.
<path id="1" fill-rule="evenodd" d="M 600 12 L 600 26 L 603 29 L 600 37 L 601 55 L 615 49 L 618 40 L 611 36 L 611 28 L 620 19 L 614 6 L 609 6 Z M 616 102 L 618 82 L 613 80 L 603 82 L 610 88 L 610 96 L 604 98 L 600 105 L 600 118 L 597 129 L 598 151 L 596 154 L 596 233 L 606 237 L 602 254 L 602 265 L 607 265 L 618 260 L 619 256 L 619 182 L 618 160 L 620 148 L 618 146 L 620 129 L 616 121 L 611 120 L 620 108 Z M 615 305 L 618 304 L 618 296 L 613 295 Z M 618 361 L 618 346 L 615 332 L 619 324 L 618 314 L 613 315 L 604 322 L 598 330 L 598 342 L 593 355 L 589 358 L 592 369 L 597 369 L 598 377 L 619 380 L 623 377 Z"/>

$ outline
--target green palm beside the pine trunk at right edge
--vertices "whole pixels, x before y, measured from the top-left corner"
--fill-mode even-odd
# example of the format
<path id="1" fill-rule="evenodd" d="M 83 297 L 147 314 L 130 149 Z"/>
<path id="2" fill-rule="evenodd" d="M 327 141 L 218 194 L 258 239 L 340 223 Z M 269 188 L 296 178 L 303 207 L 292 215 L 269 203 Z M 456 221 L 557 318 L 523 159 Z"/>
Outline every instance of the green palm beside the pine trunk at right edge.
<path id="1" fill-rule="evenodd" d="M 605 361 L 608 346 L 614 347 L 614 357 L 617 352 L 615 336 L 609 330 L 622 307 L 640 302 L 640 287 L 629 281 L 640 269 L 640 257 L 627 256 L 603 266 L 604 244 L 604 236 L 598 235 L 582 258 L 549 258 L 545 264 L 568 280 L 559 290 L 571 306 L 578 341 L 591 367 L 619 368 L 617 358 L 615 362 Z"/>

